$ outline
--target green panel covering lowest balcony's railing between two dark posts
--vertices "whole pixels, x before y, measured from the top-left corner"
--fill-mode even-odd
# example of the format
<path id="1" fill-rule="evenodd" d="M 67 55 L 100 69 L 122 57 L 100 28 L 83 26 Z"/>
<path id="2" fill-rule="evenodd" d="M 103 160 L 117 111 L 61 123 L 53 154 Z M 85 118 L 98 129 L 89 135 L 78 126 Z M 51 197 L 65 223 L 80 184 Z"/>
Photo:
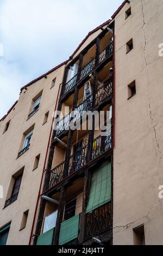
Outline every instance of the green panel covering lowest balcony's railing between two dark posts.
<path id="1" fill-rule="evenodd" d="M 64 245 L 78 237 L 79 231 L 79 215 L 76 215 L 67 221 L 61 223 L 59 245 Z"/>

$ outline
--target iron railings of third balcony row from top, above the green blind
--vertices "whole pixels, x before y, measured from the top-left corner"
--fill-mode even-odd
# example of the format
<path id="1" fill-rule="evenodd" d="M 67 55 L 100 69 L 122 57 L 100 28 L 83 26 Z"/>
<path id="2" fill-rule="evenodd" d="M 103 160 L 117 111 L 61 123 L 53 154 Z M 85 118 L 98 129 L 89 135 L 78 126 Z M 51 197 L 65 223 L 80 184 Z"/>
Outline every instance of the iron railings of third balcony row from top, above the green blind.
<path id="1" fill-rule="evenodd" d="M 91 159 L 96 159 L 101 156 L 102 153 L 108 151 L 112 147 L 111 134 L 108 136 L 98 136 L 93 140 L 92 157 Z M 61 182 L 65 177 L 70 176 L 74 172 L 83 168 L 87 163 L 87 152 L 89 144 L 86 144 L 81 150 L 76 151 L 69 158 L 68 170 L 64 174 L 65 161 L 56 166 L 53 170 L 49 172 L 49 183 L 48 189 L 51 189 L 56 184 Z"/>

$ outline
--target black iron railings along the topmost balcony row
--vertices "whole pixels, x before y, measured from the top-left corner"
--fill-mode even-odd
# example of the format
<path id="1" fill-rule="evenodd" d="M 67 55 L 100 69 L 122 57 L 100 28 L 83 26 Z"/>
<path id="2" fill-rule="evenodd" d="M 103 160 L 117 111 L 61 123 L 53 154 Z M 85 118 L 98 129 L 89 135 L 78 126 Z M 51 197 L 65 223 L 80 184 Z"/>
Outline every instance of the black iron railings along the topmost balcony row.
<path id="1" fill-rule="evenodd" d="M 62 87 L 61 96 L 71 91 L 71 89 L 77 84 L 78 81 L 84 79 L 88 74 L 92 72 L 99 64 L 101 64 L 106 58 L 108 58 L 113 53 L 113 42 L 107 45 L 98 55 L 98 61 L 96 63 L 96 58 L 92 58 L 85 67 L 82 68 L 79 78 L 75 75 L 70 81 L 66 82 Z"/>

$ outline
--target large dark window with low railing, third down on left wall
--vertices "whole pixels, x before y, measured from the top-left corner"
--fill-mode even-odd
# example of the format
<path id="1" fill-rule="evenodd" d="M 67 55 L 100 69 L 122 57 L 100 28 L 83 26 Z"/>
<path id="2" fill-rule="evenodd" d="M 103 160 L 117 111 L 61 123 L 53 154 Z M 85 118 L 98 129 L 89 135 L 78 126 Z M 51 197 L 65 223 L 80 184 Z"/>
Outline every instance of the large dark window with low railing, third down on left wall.
<path id="1" fill-rule="evenodd" d="M 4 207 L 14 203 L 17 200 L 18 192 L 20 190 L 24 167 L 17 171 L 11 177 L 10 186 L 8 190 L 7 200 L 5 201 Z"/>

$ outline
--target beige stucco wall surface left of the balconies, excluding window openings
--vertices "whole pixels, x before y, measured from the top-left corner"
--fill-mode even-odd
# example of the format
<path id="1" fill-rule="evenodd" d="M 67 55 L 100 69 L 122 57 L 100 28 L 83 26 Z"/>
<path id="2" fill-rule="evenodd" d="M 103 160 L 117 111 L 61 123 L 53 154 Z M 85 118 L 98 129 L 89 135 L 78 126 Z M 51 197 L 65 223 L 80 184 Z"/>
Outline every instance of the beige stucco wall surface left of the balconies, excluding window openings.
<path id="1" fill-rule="evenodd" d="M 0 227 L 11 221 L 8 245 L 28 245 L 30 230 L 34 218 L 37 195 L 39 193 L 43 164 L 52 125 L 52 114 L 59 85 L 62 82 L 64 66 L 55 70 L 22 91 L 15 110 L 12 110 L 4 121 L 0 122 L 0 184 L 4 188 L 4 198 L 0 199 Z M 57 77 L 55 86 L 51 88 L 52 80 Z M 42 98 L 39 111 L 28 121 L 32 99 L 41 91 Z M 48 122 L 42 125 L 46 112 L 49 111 Z M 3 134 L 5 124 L 11 120 L 9 129 Z M 34 133 L 29 150 L 17 158 L 23 133 L 33 124 Z M 40 154 L 39 167 L 33 171 L 35 157 Z M 7 197 L 11 176 L 20 168 L 24 168 L 22 182 L 17 200 L 3 209 Z M 19 231 L 23 212 L 29 209 L 26 228 Z"/>

